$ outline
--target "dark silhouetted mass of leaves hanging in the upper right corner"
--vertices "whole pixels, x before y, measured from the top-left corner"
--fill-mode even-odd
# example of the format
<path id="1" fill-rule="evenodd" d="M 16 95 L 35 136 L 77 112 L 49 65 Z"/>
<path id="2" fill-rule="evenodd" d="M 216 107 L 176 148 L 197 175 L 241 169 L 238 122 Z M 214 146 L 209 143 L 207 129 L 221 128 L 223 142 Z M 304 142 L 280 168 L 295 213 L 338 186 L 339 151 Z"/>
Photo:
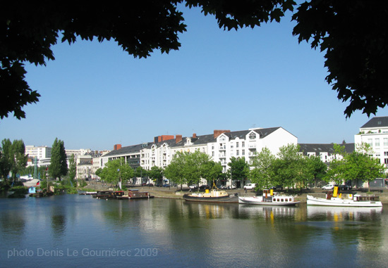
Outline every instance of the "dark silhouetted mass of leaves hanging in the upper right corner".
<path id="1" fill-rule="evenodd" d="M 387 1 L 361 0 L 305 1 L 293 15 L 299 42 L 325 51 L 326 80 L 340 100 L 350 101 L 347 117 L 387 105 L 387 15 Z"/>

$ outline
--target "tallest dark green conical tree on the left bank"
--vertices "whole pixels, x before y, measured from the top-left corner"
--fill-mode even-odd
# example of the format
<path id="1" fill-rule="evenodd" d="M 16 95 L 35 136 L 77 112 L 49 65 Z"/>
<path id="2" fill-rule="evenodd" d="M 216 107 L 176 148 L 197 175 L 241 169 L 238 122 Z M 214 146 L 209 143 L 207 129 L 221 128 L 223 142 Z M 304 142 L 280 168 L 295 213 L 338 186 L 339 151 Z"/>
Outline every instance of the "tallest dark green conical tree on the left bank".
<path id="1" fill-rule="evenodd" d="M 66 176 L 67 173 L 65 144 L 60 139 L 55 138 L 51 148 L 49 175 L 54 179 L 59 178 L 61 180 L 61 177 Z"/>

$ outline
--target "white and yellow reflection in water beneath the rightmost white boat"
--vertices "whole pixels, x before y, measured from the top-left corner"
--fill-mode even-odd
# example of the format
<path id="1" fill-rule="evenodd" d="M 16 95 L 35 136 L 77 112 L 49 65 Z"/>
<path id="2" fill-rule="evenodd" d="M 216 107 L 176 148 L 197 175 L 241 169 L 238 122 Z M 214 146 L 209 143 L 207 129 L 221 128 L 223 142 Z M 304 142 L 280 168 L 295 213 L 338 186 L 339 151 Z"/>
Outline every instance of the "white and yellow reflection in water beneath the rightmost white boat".
<path id="1" fill-rule="evenodd" d="M 323 207 L 323 206 L 308 206 L 307 216 L 322 217 L 326 216 L 327 220 L 332 219 L 334 222 L 344 220 L 359 220 L 361 217 L 370 217 L 372 215 L 381 214 L 382 207 L 377 208 L 348 208 L 348 207 Z"/>

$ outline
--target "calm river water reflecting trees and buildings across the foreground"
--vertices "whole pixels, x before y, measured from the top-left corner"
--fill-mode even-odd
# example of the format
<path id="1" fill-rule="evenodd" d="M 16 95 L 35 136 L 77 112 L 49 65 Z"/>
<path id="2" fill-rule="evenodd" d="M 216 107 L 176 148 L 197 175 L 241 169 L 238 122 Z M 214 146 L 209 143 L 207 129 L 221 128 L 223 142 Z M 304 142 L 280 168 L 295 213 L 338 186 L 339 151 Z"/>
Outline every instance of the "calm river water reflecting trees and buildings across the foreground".
<path id="1" fill-rule="evenodd" d="M 387 267 L 388 212 L 0 198 L 0 267 Z"/>

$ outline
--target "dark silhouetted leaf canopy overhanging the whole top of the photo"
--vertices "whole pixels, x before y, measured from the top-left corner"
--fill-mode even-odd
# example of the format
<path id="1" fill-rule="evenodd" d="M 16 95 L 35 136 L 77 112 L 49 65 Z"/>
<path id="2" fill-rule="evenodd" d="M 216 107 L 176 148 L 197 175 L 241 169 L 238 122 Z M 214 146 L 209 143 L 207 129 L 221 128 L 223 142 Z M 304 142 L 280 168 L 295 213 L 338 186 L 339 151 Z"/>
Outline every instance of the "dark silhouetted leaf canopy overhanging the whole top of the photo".
<path id="1" fill-rule="evenodd" d="M 77 37 L 112 39 L 139 58 L 154 50 L 178 50 L 178 34 L 186 31 L 178 4 L 214 15 L 224 30 L 279 22 L 286 11 L 293 11 L 293 34 L 299 42 L 325 51 L 326 80 L 341 101 L 350 102 L 346 116 L 355 110 L 375 114 L 387 105 L 387 1 L 311 0 L 298 5 L 293 0 L 144 0 L 76 7 L 67 2 L 6 1 L 0 9 L 0 117 L 13 113 L 23 118 L 23 106 L 39 101 L 40 94 L 25 81 L 24 64 L 54 60 L 51 46 L 60 36 L 69 44 Z"/>

